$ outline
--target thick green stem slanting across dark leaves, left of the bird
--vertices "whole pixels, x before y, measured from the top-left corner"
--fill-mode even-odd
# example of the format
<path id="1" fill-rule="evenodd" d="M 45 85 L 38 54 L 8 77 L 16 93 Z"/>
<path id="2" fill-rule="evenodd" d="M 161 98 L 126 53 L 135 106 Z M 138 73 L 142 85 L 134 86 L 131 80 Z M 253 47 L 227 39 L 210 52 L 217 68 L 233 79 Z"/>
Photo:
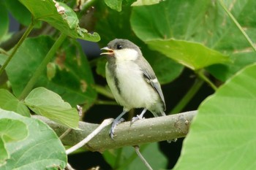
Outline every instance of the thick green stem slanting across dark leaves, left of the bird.
<path id="1" fill-rule="evenodd" d="M 28 84 L 26 87 L 23 89 L 22 93 L 19 96 L 19 99 L 26 98 L 26 96 L 29 94 L 29 92 L 32 90 L 34 87 L 34 84 L 37 82 L 40 74 L 45 70 L 46 65 L 50 62 L 50 60 L 53 58 L 53 55 L 56 53 L 56 50 L 61 46 L 62 42 L 64 42 L 64 39 L 66 39 L 67 35 L 66 34 L 61 34 L 59 38 L 56 40 L 56 42 L 53 44 L 53 47 L 50 48 L 49 52 L 45 56 L 44 60 L 40 65 L 38 66 L 36 72 L 34 72 L 33 76 L 29 80 Z"/>

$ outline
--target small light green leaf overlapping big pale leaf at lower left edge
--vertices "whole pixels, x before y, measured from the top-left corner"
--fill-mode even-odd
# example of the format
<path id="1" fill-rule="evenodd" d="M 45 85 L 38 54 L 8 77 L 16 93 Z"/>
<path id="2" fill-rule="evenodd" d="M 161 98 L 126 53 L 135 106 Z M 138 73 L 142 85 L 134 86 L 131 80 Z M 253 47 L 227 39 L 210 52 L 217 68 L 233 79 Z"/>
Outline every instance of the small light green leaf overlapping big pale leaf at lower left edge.
<path id="1" fill-rule="evenodd" d="M 6 144 L 23 140 L 28 135 L 28 127 L 22 121 L 0 118 L 0 166 L 10 158 Z"/>

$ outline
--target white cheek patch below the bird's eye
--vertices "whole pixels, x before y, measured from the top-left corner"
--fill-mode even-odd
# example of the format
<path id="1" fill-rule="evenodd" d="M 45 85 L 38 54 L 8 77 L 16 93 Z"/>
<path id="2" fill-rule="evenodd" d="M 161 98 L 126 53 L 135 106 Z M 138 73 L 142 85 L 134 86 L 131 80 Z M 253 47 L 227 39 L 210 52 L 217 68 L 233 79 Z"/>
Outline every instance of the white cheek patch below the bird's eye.
<path id="1" fill-rule="evenodd" d="M 116 61 L 135 61 L 138 58 L 138 52 L 133 49 L 115 50 Z"/>

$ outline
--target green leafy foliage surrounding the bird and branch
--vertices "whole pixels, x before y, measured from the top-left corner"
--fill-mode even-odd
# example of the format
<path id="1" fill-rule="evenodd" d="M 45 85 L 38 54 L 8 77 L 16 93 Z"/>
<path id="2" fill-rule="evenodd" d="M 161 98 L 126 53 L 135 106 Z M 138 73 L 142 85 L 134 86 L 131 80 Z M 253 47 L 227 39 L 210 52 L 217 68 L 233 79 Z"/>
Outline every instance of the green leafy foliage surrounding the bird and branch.
<path id="1" fill-rule="evenodd" d="M 88 61 L 76 39 L 105 47 L 115 38 L 135 42 L 161 84 L 193 72 L 192 96 L 176 112 L 202 80 L 216 90 L 201 102 L 174 169 L 253 169 L 256 1 L 10 0 L 0 7 L 0 169 L 64 169 L 60 139 L 31 114 L 78 129 L 76 105 L 86 115 L 109 104 L 102 101 L 113 100 L 108 88 L 94 80 L 104 77 L 105 58 Z M 8 12 L 20 23 L 15 33 Z M 156 144 L 142 150 L 154 169 L 170 169 Z M 103 156 L 113 169 L 143 169 L 129 148 Z"/>

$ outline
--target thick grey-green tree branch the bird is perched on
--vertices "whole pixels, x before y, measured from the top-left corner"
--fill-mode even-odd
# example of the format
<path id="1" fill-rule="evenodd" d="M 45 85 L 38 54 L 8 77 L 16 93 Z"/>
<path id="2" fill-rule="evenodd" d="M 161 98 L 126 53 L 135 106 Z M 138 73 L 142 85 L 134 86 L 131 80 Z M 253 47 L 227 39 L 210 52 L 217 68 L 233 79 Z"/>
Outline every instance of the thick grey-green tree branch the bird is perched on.
<path id="1" fill-rule="evenodd" d="M 108 125 L 84 147 L 91 151 L 103 152 L 118 147 L 181 138 L 187 135 L 189 125 L 196 113 L 197 111 L 191 111 L 165 117 L 148 118 L 138 120 L 132 125 L 130 122 L 120 123 L 115 129 L 116 136 L 114 139 L 109 136 L 110 125 Z M 67 130 L 67 127 L 54 123 L 46 117 L 38 115 L 33 117 L 50 125 L 58 136 Z M 91 134 L 98 126 L 98 124 L 79 122 L 80 130 L 72 129 L 61 141 L 65 145 L 75 145 Z"/>

